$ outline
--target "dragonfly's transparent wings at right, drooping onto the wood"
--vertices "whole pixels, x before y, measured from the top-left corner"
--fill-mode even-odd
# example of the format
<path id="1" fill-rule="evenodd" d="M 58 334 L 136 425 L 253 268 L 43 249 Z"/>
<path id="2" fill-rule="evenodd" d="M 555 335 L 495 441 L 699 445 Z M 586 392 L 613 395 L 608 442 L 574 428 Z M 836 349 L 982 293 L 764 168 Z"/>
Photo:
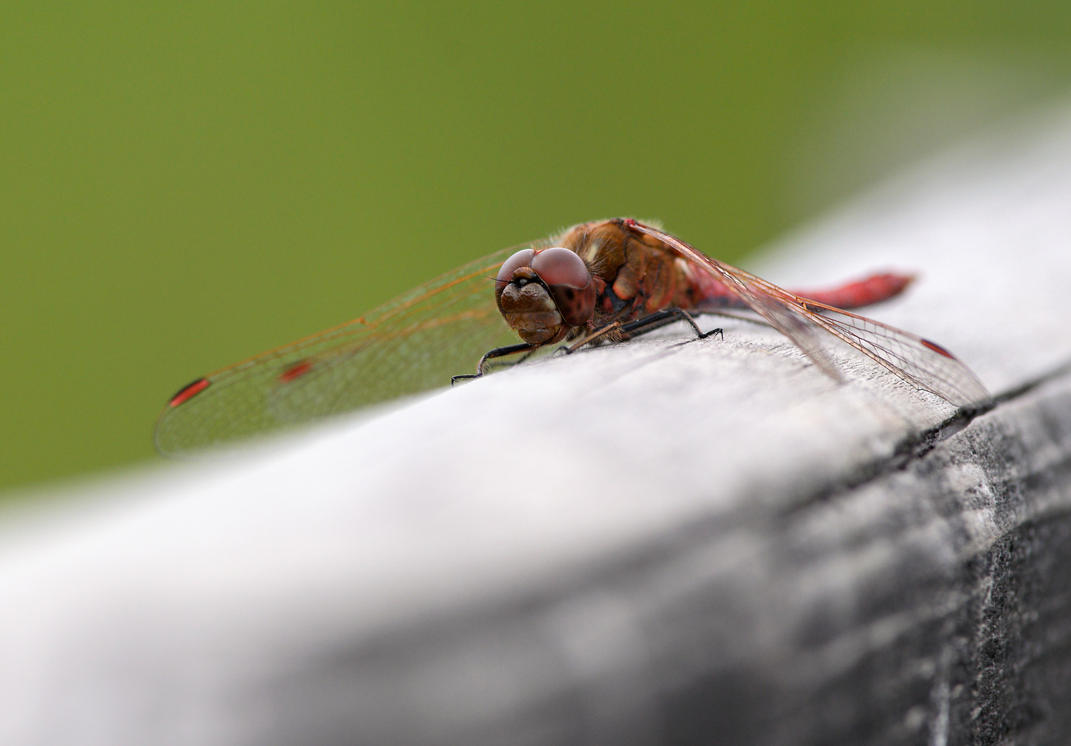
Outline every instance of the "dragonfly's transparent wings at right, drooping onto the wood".
<path id="1" fill-rule="evenodd" d="M 761 277 L 711 259 L 680 239 L 657 228 L 631 222 L 636 230 L 661 239 L 680 256 L 706 268 L 737 292 L 770 325 L 787 336 L 820 369 L 841 380 L 819 329 L 850 345 L 902 379 L 957 407 L 979 407 L 990 393 L 951 352 L 909 332 L 857 316 L 833 306 L 806 301 Z M 818 313 L 816 313 L 818 311 Z"/>

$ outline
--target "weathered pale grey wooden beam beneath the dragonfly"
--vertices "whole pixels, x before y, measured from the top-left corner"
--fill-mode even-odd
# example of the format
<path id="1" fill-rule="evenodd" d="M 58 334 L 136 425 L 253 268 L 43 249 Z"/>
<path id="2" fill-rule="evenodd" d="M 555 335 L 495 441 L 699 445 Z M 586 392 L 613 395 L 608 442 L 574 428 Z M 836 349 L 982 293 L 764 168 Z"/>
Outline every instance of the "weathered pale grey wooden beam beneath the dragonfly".
<path id="1" fill-rule="evenodd" d="M 1071 111 L 748 269 L 994 406 L 723 320 L 9 509 L 0 743 L 1071 743 Z"/>

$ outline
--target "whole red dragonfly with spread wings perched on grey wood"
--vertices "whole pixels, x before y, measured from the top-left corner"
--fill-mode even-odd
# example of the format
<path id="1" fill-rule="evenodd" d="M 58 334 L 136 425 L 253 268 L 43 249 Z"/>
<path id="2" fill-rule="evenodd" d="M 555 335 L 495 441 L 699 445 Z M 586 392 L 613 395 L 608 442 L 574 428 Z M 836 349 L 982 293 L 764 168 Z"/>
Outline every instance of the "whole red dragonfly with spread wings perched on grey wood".
<path id="1" fill-rule="evenodd" d="M 455 378 L 482 376 L 496 357 L 559 342 L 572 351 L 674 321 L 699 335 L 694 315 L 733 308 L 757 314 L 836 380 L 829 354 L 834 338 L 955 406 L 984 405 L 985 387 L 944 347 L 845 310 L 891 298 L 910 279 L 880 274 L 832 290 L 790 292 L 660 228 L 631 218 L 584 223 L 197 379 L 161 413 L 156 447 L 164 454 L 197 450 L 416 394 L 444 385 L 447 375 L 477 360 L 474 375 Z"/>

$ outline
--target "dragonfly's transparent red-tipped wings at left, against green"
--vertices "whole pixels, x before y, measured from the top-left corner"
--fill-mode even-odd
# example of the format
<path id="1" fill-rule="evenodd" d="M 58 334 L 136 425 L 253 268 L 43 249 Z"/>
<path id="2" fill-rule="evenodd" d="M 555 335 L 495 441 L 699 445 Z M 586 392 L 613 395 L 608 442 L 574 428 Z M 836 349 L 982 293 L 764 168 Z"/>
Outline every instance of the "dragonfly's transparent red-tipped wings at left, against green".
<path id="1" fill-rule="evenodd" d="M 194 451 L 444 386 L 452 375 L 472 372 L 484 352 L 518 341 L 498 313 L 493 281 L 514 250 L 194 381 L 161 413 L 156 448 Z"/>

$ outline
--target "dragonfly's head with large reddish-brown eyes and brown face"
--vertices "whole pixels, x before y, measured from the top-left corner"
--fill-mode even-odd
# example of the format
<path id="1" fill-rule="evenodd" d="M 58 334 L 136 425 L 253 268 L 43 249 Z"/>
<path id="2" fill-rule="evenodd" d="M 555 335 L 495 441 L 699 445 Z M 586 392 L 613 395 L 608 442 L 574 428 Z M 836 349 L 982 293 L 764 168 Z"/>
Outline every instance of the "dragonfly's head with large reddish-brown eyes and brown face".
<path id="1" fill-rule="evenodd" d="M 591 320 L 595 284 L 584 260 L 568 248 L 524 248 L 498 271 L 495 301 L 522 339 L 546 345 Z"/>

